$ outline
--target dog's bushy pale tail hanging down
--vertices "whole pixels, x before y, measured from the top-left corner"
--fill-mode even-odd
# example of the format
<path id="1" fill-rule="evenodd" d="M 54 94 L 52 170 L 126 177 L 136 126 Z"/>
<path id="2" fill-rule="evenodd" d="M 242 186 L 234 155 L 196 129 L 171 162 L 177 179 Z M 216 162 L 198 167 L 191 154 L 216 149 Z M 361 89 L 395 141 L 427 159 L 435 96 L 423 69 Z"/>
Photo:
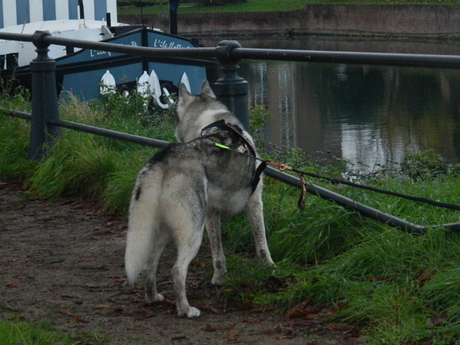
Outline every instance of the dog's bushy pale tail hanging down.
<path id="1" fill-rule="evenodd" d="M 148 193 L 146 190 L 138 191 L 140 186 L 134 189 L 132 196 L 126 238 L 125 270 L 131 284 L 136 283 L 139 274 L 149 262 L 154 248 L 154 238 L 159 231 L 156 219 L 158 198 L 156 195 L 141 195 L 139 199 L 140 193 Z"/>

